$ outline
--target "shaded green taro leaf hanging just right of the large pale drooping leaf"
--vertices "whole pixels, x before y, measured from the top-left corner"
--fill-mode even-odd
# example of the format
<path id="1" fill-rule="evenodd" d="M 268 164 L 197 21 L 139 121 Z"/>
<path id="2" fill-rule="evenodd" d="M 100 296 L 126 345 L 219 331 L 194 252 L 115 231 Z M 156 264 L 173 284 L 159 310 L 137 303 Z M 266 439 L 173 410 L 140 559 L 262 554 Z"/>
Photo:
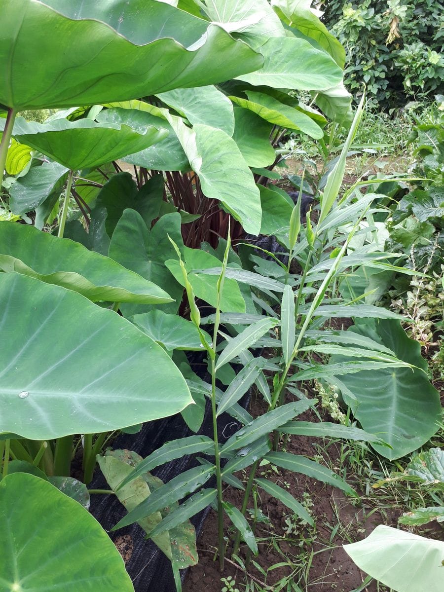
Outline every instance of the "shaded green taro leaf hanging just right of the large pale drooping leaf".
<path id="1" fill-rule="evenodd" d="M 248 109 L 234 105 L 234 133 L 240 153 L 248 166 L 268 166 L 275 161 L 275 151 L 270 143 L 272 124 Z"/>

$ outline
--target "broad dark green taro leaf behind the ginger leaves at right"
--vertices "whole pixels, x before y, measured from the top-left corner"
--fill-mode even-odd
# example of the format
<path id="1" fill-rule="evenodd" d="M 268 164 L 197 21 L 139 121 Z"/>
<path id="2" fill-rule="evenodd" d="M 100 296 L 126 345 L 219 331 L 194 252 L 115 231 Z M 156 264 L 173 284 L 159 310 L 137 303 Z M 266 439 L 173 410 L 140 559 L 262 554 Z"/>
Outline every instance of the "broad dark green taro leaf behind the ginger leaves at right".
<path id="1" fill-rule="evenodd" d="M 349 331 L 370 337 L 395 353 L 398 359 L 417 366 L 379 368 L 337 376 L 345 385 L 343 397 L 362 428 L 392 446 L 372 444 L 385 458 L 395 459 L 422 446 L 438 429 L 439 393 L 427 379 L 427 362 L 421 346 L 407 337 L 400 321 L 368 319 Z M 332 356 L 332 362 L 347 358 Z"/>

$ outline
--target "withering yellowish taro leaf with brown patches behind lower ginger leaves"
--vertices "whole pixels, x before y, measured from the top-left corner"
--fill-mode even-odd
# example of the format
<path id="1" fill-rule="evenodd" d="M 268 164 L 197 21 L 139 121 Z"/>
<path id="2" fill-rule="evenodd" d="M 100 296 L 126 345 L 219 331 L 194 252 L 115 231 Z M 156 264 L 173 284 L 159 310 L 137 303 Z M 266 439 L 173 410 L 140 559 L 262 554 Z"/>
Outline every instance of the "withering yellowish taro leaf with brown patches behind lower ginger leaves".
<path id="1" fill-rule="evenodd" d="M 105 456 L 98 456 L 97 461 L 108 484 L 112 490 L 116 490 L 123 478 L 127 477 L 133 468 L 143 461 L 143 458 L 133 451 L 115 450 L 107 452 Z M 162 485 L 163 482 L 158 477 L 146 472 L 118 489 L 117 497 L 126 509 L 131 511 Z M 139 520 L 138 524 L 149 534 L 169 511 L 175 510 L 178 506 L 176 502 Z M 169 531 L 153 536 L 153 542 L 170 561 L 176 564 L 178 569 L 184 570 L 190 565 L 197 564 L 196 533 L 189 520 Z"/>

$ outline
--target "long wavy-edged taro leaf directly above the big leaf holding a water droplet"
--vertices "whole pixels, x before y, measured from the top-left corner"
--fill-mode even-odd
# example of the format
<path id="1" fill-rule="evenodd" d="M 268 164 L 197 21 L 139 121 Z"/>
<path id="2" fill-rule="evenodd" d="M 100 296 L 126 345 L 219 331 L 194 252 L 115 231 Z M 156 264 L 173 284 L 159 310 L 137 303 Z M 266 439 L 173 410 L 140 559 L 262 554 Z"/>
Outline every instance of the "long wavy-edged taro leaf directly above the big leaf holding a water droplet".
<path id="1" fill-rule="evenodd" d="M 0 269 L 75 290 L 92 301 L 172 301 L 158 285 L 112 259 L 25 224 L 0 222 Z"/>

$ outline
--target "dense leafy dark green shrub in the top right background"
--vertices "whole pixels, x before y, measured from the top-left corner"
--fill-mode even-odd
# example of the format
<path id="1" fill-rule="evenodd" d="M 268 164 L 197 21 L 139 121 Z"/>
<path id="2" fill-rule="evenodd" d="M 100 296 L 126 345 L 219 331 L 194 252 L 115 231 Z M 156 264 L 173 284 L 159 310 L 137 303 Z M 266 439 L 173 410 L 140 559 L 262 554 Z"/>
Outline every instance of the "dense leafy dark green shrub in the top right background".
<path id="1" fill-rule="evenodd" d="M 346 48 L 345 82 L 387 110 L 442 89 L 444 30 L 439 0 L 326 0 L 324 22 Z"/>

